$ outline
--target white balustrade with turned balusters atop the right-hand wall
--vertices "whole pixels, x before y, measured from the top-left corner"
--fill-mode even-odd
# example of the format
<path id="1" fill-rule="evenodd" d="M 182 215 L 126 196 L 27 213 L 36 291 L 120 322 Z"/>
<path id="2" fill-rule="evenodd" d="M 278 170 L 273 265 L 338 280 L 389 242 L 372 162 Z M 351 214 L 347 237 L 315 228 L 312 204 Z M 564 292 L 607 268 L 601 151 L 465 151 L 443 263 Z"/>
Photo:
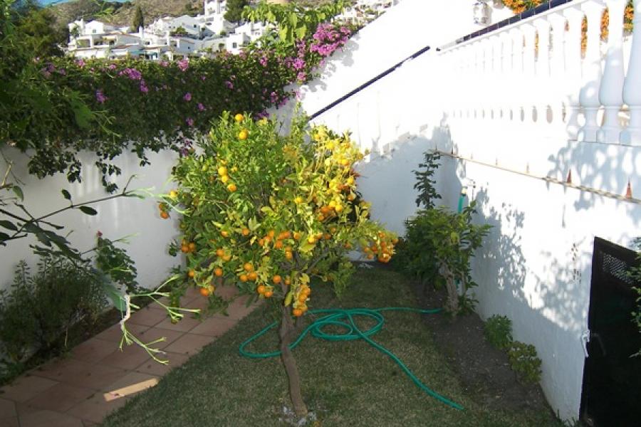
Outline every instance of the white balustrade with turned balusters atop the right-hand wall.
<path id="1" fill-rule="evenodd" d="M 455 85 L 443 90 L 449 98 L 444 102 L 447 111 L 488 135 L 501 126 L 499 132 L 527 128 L 531 141 L 554 135 L 558 144 L 570 139 L 641 145 L 641 30 L 635 31 L 632 43 L 623 43 L 626 4 L 574 0 L 444 48 L 440 56 L 449 70 L 442 74 L 444 83 L 452 80 Z M 634 5 L 635 27 L 641 28 L 641 0 Z M 601 40 L 606 6 L 607 46 Z M 632 49 L 627 74 L 626 46 Z M 624 105 L 630 110 L 625 126 L 620 121 Z"/>

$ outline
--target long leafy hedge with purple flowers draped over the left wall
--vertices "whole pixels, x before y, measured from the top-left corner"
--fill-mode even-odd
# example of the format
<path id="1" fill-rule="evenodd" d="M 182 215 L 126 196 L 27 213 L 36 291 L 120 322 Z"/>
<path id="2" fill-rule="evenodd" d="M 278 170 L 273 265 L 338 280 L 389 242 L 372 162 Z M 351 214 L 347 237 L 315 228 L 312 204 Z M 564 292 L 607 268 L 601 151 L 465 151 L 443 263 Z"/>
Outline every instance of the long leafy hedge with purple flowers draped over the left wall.
<path id="1" fill-rule="evenodd" d="M 149 152 L 188 149 L 224 110 L 259 115 L 283 105 L 294 95 L 286 85 L 313 78 L 351 33 L 326 24 L 295 43 L 271 36 L 237 56 L 171 63 L 36 58 L 31 39 L 6 19 L 12 3 L 0 0 L 0 145 L 33 150 L 31 174 L 70 181 L 81 178 L 78 153 L 95 152 L 109 191 L 118 155 L 132 149 L 147 164 Z"/>

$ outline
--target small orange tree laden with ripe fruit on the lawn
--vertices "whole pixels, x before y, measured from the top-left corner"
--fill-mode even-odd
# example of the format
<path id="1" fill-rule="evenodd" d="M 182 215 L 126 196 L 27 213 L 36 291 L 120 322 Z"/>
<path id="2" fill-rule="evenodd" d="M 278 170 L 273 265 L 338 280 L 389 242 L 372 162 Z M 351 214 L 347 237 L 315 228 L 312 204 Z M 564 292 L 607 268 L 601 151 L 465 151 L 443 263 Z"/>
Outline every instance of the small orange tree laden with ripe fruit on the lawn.
<path id="1" fill-rule="evenodd" d="M 345 288 L 356 245 L 390 260 L 396 236 L 369 219 L 353 166 L 363 159 L 349 135 L 306 127 L 288 135 L 274 121 L 224 113 L 197 152 L 173 170 L 178 189 L 165 209 L 182 214 L 187 280 L 214 302 L 221 278 L 278 312 L 281 360 L 294 410 L 307 412 L 289 345 L 311 301 L 311 279 Z M 315 282 L 316 283 L 316 282 Z M 211 295 L 210 295 L 211 294 Z"/>

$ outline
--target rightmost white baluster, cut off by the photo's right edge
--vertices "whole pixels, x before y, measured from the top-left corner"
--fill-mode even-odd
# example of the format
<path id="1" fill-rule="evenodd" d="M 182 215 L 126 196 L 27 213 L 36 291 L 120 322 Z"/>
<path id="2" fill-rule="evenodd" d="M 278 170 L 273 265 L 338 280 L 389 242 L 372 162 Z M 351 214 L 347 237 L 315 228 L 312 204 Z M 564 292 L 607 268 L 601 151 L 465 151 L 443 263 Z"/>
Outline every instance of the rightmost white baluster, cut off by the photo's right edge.
<path id="1" fill-rule="evenodd" d="M 641 0 L 635 1 L 632 53 L 623 86 L 623 101 L 630 107 L 630 124 L 621 132 L 621 144 L 641 145 Z"/>

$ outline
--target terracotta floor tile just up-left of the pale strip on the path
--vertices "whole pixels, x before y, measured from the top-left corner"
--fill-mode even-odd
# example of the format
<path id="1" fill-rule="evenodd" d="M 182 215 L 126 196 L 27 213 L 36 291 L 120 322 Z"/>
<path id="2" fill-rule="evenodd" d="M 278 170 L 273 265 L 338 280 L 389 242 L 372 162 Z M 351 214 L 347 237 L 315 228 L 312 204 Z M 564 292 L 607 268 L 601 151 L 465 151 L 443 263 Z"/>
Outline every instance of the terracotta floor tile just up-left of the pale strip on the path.
<path id="1" fill-rule="evenodd" d="M 64 384 L 100 390 L 123 376 L 125 371 L 104 364 L 89 364 L 76 359 L 66 359 L 46 364 L 33 374 L 55 379 Z"/>

